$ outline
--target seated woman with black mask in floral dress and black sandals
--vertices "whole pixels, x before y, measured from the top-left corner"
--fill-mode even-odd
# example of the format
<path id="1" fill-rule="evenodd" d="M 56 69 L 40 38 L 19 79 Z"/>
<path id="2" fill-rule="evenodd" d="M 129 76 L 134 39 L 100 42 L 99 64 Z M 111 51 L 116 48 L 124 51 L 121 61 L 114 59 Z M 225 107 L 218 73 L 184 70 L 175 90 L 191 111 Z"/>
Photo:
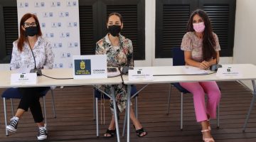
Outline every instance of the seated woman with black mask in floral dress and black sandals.
<path id="1" fill-rule="evenodd" d="M 95 54 L 107 55 L 107 67 L 124 67 L 134 66 L 132 57 L 132 41 L 125 38 L 120 34 L 123 28 L 122 16 L 119 13 L 110 13 L 107 18 L 107 29 L 109 33 L 96 43 Z M 110 85 L 100 85 L 100 89 L 110 94 Z M 120 112 L 124 111 L 127 102 L 127 86 L 119 84 L 114 86 L 116 94 L 117 108 Z M 113 111 L 113 104 L 110 101 L 110 108 Z M 142 128 L 134 115 L 134 111 L 131 107 L 130 116 L 134 127 L 136 129 L 137 136 L 146 136 L 146 131 Z M 105 133 L 105 137 L 114 136 L 114 116 L 112 115 L 112 121 Z"/>

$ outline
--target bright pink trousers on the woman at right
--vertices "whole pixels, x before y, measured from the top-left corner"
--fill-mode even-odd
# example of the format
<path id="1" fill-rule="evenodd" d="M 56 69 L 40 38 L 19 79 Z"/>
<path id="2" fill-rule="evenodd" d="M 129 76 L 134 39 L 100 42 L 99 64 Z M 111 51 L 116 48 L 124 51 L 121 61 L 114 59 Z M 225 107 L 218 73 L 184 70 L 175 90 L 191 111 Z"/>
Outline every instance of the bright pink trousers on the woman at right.
<path id="1" fill-rule="evenodd" d="M 206 121 L 207 115 L 215 119 L 216 109 L 220 102 L 220 89 L 216 82 L 181 82 L 181 86 L 193 94 L 196 121 Z M 208 95 L 206 104 L 205 94 Z"/>

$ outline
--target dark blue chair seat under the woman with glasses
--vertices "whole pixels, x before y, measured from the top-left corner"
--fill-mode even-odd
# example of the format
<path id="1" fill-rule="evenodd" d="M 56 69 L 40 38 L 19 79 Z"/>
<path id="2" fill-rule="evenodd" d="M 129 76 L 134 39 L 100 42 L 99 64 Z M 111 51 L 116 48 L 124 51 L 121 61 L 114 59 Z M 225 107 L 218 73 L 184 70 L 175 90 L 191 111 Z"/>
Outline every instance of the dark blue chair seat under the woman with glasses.
<path id="1" fill-rule="evenodd" d="M 49 87 L 49 89 L 50 89 L 50 87 Z M 43 90 L 43 92 L 41 92 L 41 97 L 46 96 L 49 89 Z M 21 99 L 22 95 L 18 91 L 18 88 L 8 88 L 8 89 L 4 90 L 1 97 L 6 98 L 6 99 Z"/>

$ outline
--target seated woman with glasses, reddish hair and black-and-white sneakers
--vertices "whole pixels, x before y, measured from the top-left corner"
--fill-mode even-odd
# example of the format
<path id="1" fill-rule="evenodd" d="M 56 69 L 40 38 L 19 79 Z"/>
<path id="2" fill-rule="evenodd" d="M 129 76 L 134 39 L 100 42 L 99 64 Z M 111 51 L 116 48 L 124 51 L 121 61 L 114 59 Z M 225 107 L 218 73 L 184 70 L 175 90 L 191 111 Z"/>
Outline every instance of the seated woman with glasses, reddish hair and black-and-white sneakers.
<path id="1" fill-rule="evenodd" d="M 14 41 L 11 55 L 11 70 L 26 72 L 35 69 L 52 69 L 53 68 L 53 51 L 50 43 L 42 38 L 40 24 L 36 15 L 26 13 L 20 22 L 20 36 Z M 33 54 L 32 54 L 33 53 Z M 34 56 L 34 57 L 33 57 Z M 34 59 L 35 58 L 35 59 Z M 45 92 L 50 87 L 21 87 L 18 91 L 22 98 L 18 104 L 18 109 L 6 129 L 13 133 L 16 132 L 18 121 L 21 116 L 28 111 L 33 115 L 33 119 L 38 126 L 38 140 L 47 138 L 46 126 L 43 123 L 43 114 L 39 99 L 41 92 Z"/>

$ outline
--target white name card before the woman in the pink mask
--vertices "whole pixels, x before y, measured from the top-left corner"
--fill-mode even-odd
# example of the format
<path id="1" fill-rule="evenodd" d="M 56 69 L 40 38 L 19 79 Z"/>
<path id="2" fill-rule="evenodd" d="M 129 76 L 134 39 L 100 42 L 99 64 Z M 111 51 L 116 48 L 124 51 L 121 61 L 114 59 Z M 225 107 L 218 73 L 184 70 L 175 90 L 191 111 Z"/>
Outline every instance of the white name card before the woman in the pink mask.
<path id="1" fill-rule="evenodd" d="M 234 67 L 220 67 L 218 68 L 216 76 L 221 78 L 242 77 L 242 72 Z"/>

